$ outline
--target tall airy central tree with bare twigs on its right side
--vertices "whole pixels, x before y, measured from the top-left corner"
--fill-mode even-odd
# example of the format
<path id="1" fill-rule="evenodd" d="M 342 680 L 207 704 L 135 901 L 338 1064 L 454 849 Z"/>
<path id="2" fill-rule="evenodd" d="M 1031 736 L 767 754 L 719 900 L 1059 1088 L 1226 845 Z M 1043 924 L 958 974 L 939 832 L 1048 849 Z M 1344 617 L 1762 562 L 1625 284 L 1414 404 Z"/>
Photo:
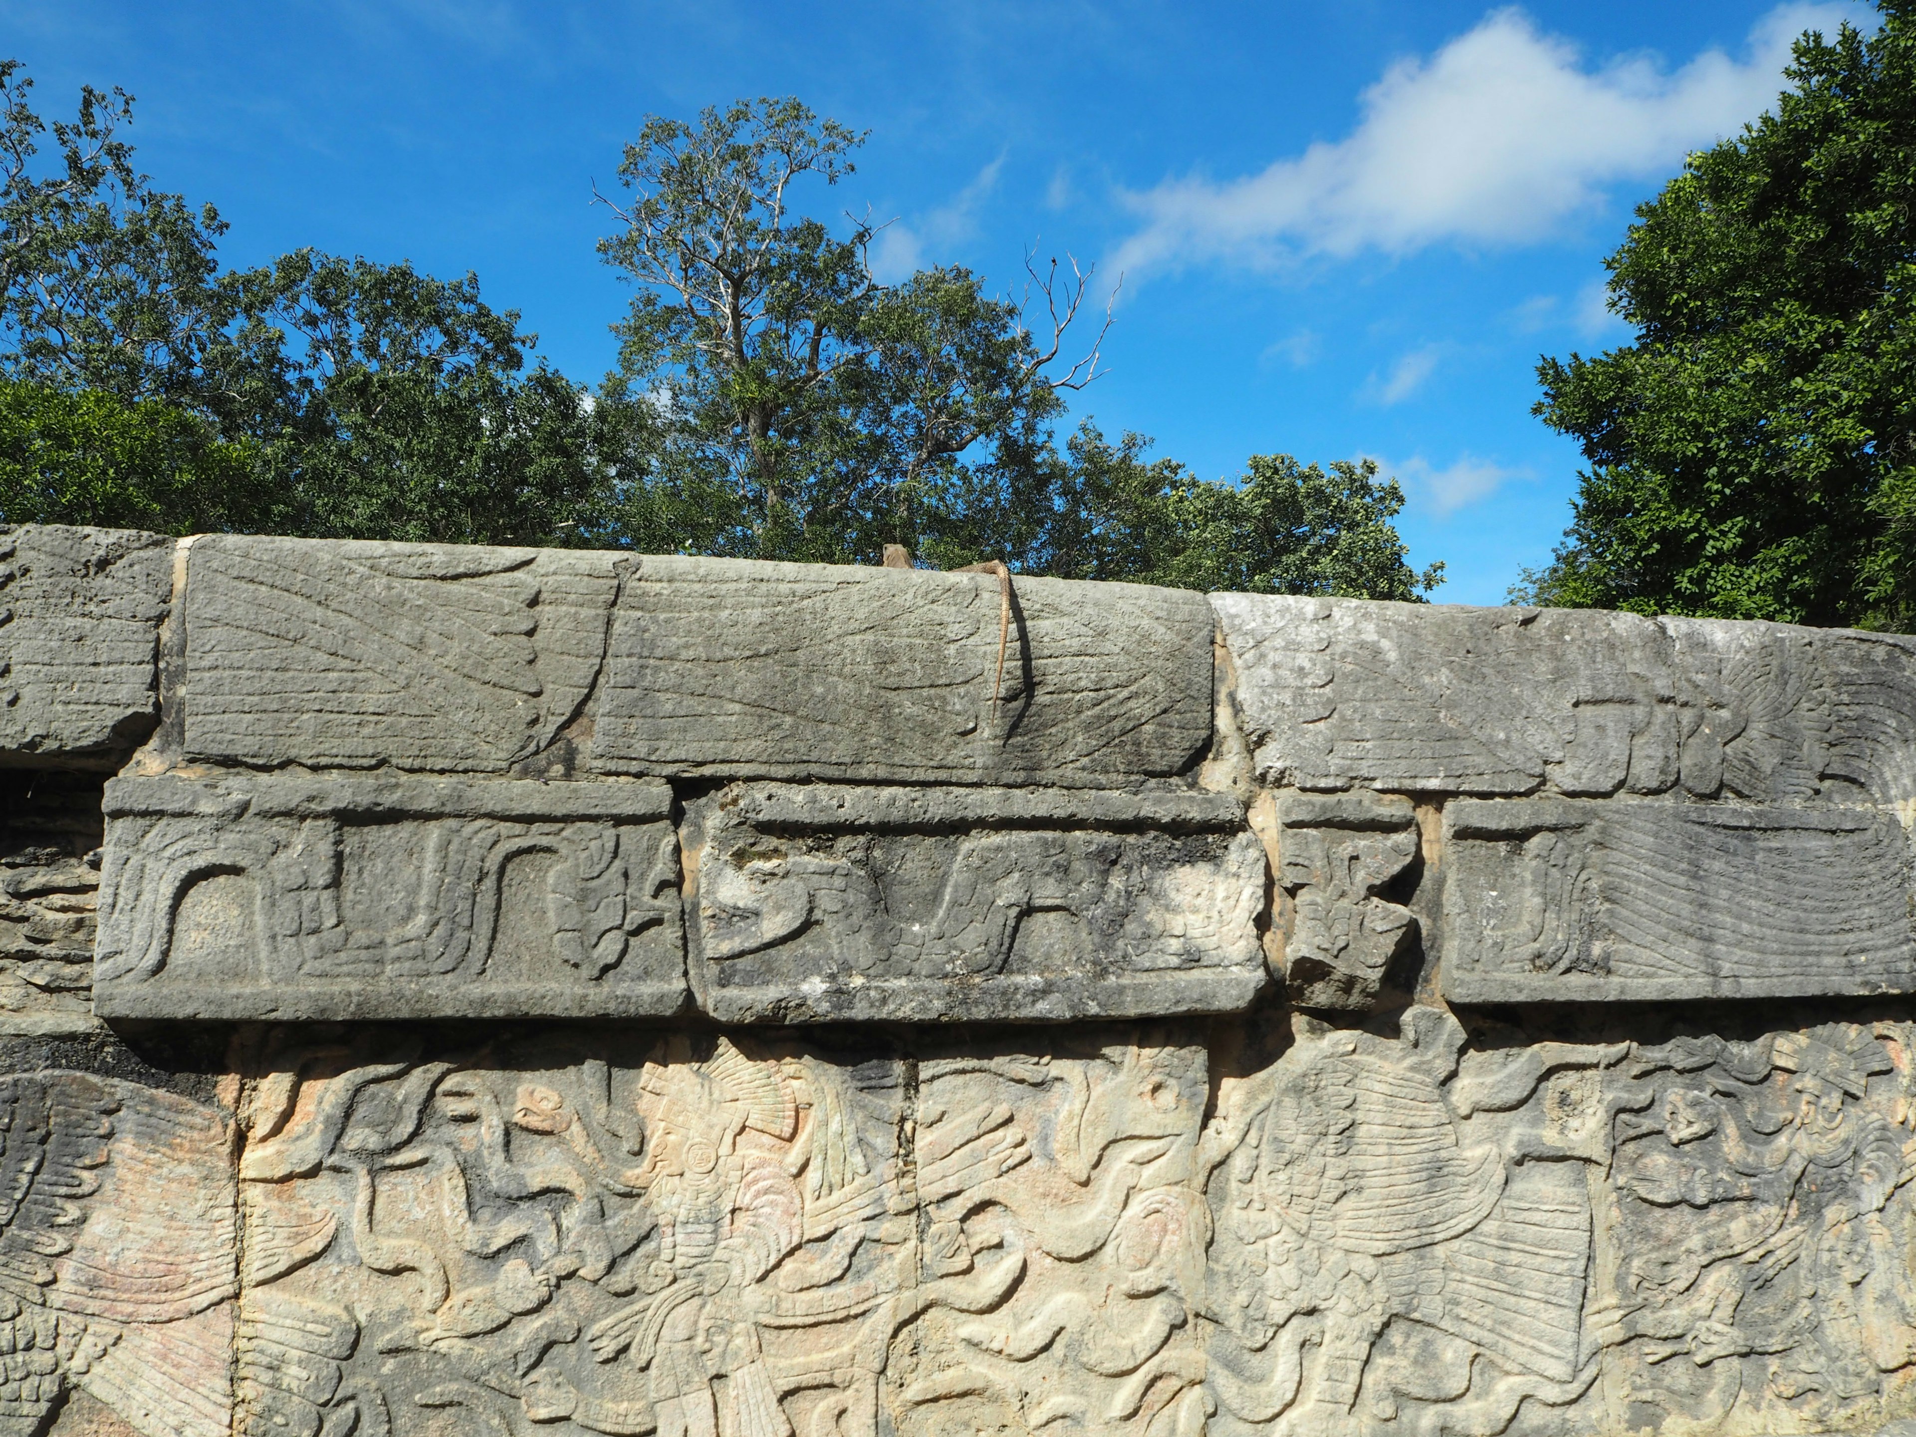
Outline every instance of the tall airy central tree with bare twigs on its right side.
<path id="1" fill-rule="evenodd" d="M 671 533 L 699 552 L 874 561 L 887 542 L 937 563 L 987 558 L 983 469 L 1029 464 L 1061 389 L 1058 372 L 1088 274 L 1033 274 L 1040 343 L 1023 308 L 969 270 L 881 285 L 870 222 L 849 234 L 793 213 L 795 188 L 835 186 L 862 142 L 797 100 L 707 109 L 694 128 L 653 117 L 627 146 L 607 199 L 621 232 L 600 253 L 636 284 L 617 326 L 605 397 L 650 408 L 650 468 L 628 473 L 613 523 Z"/>

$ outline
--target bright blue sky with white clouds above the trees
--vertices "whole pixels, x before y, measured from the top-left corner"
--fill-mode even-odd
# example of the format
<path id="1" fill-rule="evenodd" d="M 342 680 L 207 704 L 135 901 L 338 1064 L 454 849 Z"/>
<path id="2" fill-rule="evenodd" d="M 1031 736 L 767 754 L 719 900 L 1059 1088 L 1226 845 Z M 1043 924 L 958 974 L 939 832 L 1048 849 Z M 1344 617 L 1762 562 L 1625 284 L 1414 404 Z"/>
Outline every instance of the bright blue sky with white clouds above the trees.
<path id="1" fill-rule="evenodd" d="M 879 262 L 1015 289 L 1027 249 L 1125 274 L 1075 397 L 1207 477 L 1376 456 L 1435 598 L 1548 558 L 1573 445 L 1540 353 L 1604 349 L 1602 257 L 1682 155 L 1770 103 L 1788 36 L 1843 4 L 94 4 L 0 0 L 46 115 L 138 98 L 128 138 L 232 222 L 479 274 L 577 379 L 625 307 L 594 257 L 644 115 L 797 94 L 870 130 L 818 213 L 893 220 Z"/>

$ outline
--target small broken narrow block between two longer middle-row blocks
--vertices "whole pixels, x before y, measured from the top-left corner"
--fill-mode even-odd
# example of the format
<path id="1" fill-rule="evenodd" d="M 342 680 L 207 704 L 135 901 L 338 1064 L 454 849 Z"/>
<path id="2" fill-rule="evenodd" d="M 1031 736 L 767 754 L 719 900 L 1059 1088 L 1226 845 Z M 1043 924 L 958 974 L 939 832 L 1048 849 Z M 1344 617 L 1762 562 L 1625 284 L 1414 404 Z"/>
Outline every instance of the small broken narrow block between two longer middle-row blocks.
<path id="1" fill-rule="evenodd" d="M 1418 856 L 1408 799 L 1286 793 L 1278 801 L 1278 883 L 1291 899 L 1284 981 L 1299 1008 L 1368 1012 L 1391 960 L 1416 931 L 1378 891 Z"/>

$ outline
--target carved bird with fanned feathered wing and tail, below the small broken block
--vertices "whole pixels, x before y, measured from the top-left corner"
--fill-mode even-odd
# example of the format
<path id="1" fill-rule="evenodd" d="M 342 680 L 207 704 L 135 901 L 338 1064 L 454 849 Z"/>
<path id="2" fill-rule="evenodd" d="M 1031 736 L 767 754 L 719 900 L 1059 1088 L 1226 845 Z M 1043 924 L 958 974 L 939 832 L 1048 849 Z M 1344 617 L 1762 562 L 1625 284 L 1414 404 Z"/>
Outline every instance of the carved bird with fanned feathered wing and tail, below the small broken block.
<path id="1" fill-rule="evenodd" d="M 1435 1008 L 1395 1042 L 1301 1021 L 1226 1094 L 1203 1163 L 1226 1429 L 1494 1433 L 1596 1380 L 1583 1165 L 1606 1134 L 1552 1127 L 1539 1088 L 1617 1054 L 1462 1044 Z"/>

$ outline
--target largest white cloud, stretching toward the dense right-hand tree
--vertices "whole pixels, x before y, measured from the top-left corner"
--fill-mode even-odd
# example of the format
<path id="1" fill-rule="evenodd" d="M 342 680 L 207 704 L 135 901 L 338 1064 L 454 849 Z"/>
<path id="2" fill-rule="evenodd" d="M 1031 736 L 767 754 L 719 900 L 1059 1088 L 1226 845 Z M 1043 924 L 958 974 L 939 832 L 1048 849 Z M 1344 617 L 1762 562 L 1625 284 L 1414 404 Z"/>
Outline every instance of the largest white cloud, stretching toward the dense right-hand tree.
<path id="1" fill-rule="evenodd" d="M 1650 56 L 1588 67 L 1523 11 L 1491 11 L 1437 54 L 1391 65 L 1343 140 L 1261 174 L 1190 174 L 1125 195 L 1144 224 L 1113 268 L 1544 240 L 1592 213 L 1604 186 L 1667 174 L 1740 130 L 1782 90 L 1790 42 L 1834 34 L 1843 17 L 1866 11 L 1784 4 L 1751 29 L 1742 59 L 1705 50 L 1671 71 Z"/>

